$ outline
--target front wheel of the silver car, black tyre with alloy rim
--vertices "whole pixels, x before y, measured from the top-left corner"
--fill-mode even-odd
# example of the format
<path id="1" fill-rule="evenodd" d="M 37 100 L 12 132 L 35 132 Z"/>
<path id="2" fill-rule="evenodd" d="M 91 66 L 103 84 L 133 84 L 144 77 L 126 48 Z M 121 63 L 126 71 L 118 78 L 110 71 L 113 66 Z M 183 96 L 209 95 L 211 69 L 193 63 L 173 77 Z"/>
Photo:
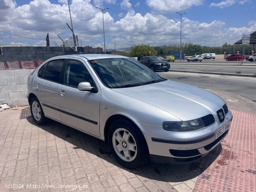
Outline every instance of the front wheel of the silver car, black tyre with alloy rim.
<path id="1" fill-rule="evenodd" d="M 139 128 L 128 120 L 116 120 L 110 126 L 108 145 L 121 166 L 134 169 L 148 162 L 146 140 Z"/>

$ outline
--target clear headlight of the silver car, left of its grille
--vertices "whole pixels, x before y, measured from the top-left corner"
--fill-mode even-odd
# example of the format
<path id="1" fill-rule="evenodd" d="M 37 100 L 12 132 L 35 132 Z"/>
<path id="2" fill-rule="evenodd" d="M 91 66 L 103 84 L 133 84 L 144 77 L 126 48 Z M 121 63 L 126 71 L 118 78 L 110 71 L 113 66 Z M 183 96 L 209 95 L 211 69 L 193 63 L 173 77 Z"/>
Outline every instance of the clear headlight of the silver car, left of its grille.
<path id="1" fill-rule="evenodd" d="M 205 127 L 201 118 L 189 121 L 166 121 L 162 123 L 165 131 L 171 132 L 189 132 Z"/>

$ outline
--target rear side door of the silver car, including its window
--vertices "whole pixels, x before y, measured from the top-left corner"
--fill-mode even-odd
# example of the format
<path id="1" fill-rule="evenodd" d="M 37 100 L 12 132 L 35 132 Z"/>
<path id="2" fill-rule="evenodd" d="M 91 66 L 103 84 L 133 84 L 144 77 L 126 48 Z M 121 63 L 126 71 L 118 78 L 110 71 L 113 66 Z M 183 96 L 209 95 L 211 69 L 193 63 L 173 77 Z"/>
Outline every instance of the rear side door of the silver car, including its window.
<path id="1" fill-rule="evenodd" d="M 52 60 L 40 67 L 34 79 L 34 89 L 45 116 L 61 121 L 59 86 L 64 59 Z"/>

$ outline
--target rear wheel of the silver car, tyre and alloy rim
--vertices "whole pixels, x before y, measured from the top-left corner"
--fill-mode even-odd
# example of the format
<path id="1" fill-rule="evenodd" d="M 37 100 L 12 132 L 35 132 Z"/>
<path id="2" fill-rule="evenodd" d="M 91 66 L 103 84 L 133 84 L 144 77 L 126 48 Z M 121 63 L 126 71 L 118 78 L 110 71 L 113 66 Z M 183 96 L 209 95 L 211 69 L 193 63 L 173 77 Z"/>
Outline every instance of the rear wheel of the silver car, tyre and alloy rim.
<path id="1" fill-rule="evenodd" d="M 37 125 L 44 125 L 47 123 L 47 118 L 44 115 L 43 109 L 37 98 L 33 97 L 30 101 L 30 112 L 34 122 Z"/>

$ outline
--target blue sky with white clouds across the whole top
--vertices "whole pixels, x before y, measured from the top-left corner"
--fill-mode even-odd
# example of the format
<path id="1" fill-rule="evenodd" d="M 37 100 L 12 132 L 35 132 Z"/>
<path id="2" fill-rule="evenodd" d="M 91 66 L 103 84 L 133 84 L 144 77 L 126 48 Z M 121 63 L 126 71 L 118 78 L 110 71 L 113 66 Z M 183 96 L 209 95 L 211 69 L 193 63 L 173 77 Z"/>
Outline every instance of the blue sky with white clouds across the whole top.
<path id="1" fill-rule="evenodd" d="M 256 31 L 255 0 L 69 0 L 79 46 L 106 48 L 152 46 L 182 42 L 202 46 L 234 44 L 243 34 Z M 0 45 L 61 45 L 72 37 L 67 0 L 0 0 Z M 70 25 L 71 26 L 71 25 Z M 55 42 L 55 43 L 54 43 Z"/>

